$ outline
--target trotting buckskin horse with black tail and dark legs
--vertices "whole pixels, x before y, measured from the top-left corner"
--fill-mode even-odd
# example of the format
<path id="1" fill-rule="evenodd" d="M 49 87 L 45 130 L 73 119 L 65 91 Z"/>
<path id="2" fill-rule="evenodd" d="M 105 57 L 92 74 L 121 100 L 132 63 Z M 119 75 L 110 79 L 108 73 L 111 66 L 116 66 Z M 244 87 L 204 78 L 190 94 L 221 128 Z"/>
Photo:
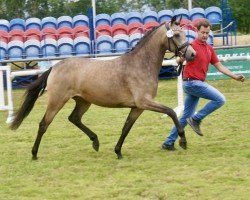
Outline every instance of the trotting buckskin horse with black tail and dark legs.
<path id="1" fill-rule="evenodd" d="M 68 120 L 89 137 L 96 151 L 99 150 L 98 136 L 81 121 L 91 104 L 110 108 L 131 108 L 114 149 L 118 159 L 122 158 L 121 148 L 126 136 L 144 110 L 170 116 L 178 130 L 179 142 L 184 144 L 185 133 L 174 110 L 154 101 L 166 50 L 183 56 L 186 60 L 193 60 L 196 54 L 186 42 L 185 33 L 179 25 L 180 20 L 173 17 L 170 22 L 164 22 L 148 31 L 132 50 L 118 58 L 66 58 L 31 83 L 20 108 L 14 114 L 10 128 L 15 130 L 21 125 L 47 87 L 47 108 L 39 123 L 31 151 L 32 159 L 37 159 L 42 137 L 55 115 L 71 98 L 75 100 L 75 108 Z"/>

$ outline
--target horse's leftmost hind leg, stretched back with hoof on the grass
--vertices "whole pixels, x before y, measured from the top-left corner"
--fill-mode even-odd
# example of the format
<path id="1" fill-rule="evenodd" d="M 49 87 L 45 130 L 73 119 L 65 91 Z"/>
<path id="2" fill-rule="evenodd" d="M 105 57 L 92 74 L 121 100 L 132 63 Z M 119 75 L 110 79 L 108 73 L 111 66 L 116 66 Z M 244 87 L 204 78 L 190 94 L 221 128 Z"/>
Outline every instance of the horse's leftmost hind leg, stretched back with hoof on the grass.
<path id="1" fill-rule="evenodd" d="M 48 126 L 54 119 L 55 115 L 58 113 L 58 111 L 64 106 L 66 101 L 54 101 L 56 103 L 49 103 L 47 110 L 45 112 L 45 115 L 41 122 L 39 123 L 39 129 L 37 133 L 37 137 L 35 140 L 35 143 L 32 148 L 32 159 L 36 160 L 37 159 L 37 153 L 39 149 L 40 142 L 42 140 L 43 134 L 46 132 Z"/>

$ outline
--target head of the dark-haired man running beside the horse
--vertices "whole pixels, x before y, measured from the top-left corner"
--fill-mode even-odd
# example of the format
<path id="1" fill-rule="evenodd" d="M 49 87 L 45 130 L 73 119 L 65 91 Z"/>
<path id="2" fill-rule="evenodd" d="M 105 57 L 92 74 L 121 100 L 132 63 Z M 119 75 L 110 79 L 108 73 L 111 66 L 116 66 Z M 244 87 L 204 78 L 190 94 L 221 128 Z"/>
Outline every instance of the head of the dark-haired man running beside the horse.
<path id="1" fill-rule="evenodd" d="M 197 28 L 197 39 L 201 42 L 206 42 L 209 36 L 209 31 L 211 30 L 211 24 L 207 19 L 202 19 L 196 24 Z"/>

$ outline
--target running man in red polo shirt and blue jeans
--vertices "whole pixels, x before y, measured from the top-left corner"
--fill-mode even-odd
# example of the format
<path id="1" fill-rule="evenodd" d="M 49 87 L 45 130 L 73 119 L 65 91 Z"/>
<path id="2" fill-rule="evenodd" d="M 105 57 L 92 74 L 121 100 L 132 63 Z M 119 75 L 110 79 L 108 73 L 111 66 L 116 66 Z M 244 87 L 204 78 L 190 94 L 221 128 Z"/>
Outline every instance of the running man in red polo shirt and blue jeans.
<path id="1" fill-rule="evenodd" d="M 188 123 L 198 135 L 202 136 L 203 133 L 200 129 L 201 121 L 210 113 L 220 108 L 226 101 L 221 92 L 204 82 L 209 64 L 213 64 L 218 71 L 234 80 L 243 82 L 245 77 L 241 74 L 234 74 L 224 67 L 221 62 L 219 62 L 213 47 L 206 43 L 211 29 L 211 24 L 208 20 L 204 19 L 199 21 L 196 27 L 197 38 L 192 42 L 192 47 L 196 51 L 196 57 L 193 61 L 187 62 L 183 70 L 183 90 L 186 93 L 186 98 L 184 112 L 179 122 L 183 128 Z M 183 58 L 181 58 L 181 61 L 183 62 Z M 210 101 L 195 114 L 195 109 L 200 98 Z M 174 142 L 177 138 L 177 129 L 174 127 L 162 144 L 162 149 L 175 150 Z M 187 148 L 186 142 L 182 141 L 179 145 L 183 149 Z"/>

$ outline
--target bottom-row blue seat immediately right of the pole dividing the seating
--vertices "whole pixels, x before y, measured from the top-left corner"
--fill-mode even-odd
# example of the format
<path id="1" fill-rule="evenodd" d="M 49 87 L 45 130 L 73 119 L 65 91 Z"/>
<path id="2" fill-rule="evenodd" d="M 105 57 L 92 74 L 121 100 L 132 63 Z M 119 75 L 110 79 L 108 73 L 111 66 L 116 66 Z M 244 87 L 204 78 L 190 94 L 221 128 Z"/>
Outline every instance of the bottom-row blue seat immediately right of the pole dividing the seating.
<path id="1" fill-rule="evenodd" d="M 112 53 L 113 38 L 108 35 L 102 35 L 96 39 L 96 53 Z"/>

